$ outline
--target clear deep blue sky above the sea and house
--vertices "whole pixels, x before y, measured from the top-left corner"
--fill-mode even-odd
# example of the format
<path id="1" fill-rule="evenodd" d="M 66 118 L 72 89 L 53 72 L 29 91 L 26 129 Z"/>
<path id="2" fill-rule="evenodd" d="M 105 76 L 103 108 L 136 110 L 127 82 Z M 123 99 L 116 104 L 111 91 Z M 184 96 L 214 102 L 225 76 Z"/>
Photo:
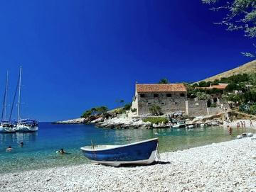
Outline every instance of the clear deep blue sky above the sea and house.
<path id="1" fill-rule="evenodd" d="M 221 13 L 208 8 L 200 0 L 1 1 L 0 100 L 6 70 L 13 96 L 19 65 L 22 117 L 49 121 L 131 101 L 135 81 L 198 81 L 252 60 L 240 55 L 252 41 L 213 25 Z"/>

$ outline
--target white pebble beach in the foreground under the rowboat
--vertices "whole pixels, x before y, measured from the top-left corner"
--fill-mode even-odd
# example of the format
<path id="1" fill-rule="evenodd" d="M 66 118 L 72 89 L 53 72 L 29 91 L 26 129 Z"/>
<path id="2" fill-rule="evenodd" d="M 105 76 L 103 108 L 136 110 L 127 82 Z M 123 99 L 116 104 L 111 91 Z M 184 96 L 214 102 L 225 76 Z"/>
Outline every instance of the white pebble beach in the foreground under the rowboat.
<path id="1" fill-rule="evenodd" d="M 149 166 L 81 164 L 1 174 L 0 191 L 253 191 L 251 139 L 161 153 Z"/>

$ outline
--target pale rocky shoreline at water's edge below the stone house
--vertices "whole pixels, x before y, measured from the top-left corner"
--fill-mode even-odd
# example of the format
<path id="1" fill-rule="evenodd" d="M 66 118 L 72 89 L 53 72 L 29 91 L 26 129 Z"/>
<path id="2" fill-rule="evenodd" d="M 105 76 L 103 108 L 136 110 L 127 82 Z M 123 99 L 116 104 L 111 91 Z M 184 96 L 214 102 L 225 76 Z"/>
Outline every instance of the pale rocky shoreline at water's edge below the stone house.
<path id="1" fill-rule="evenodd" d="M 230 115 L 231 114 L 231 115 Z M 238 116 L 240 115 L 240 116 Z M 226 118 L 231 117 L 231 120 L 226 120 Z M 233 118 L 235 117 L 235 118 Z M 166 118 L 169 120 L 168 123 L 151 123 L 149 121 L 144 121 L 145 118 Z M 255 116 L 237 113 L 236 111 L 228 111 L 225 113 L 218 113 L 215 115 L 205 115 L 194 118 L 183 117 L 183 114 L 178 118 L 172 118 L 174 120 L 178 120 L 179 122 L 185 122 L 186 125 L 195 125 L 200 126 L 203 125 L 232 125 L 232 127 L 236 127 L 234 122 L 240 122 L 240 120 L 247 121 L 246 127 L 250 128 L 249 119 L 252 119 L 255 122 Z M 54 122 L 54 124 L 93 124 L 97 128 L 112 128 L 112 129 L 127 129 L 127 128 L 142 128 L 142 129 L 151 129 L 151 128 L 171 128 L 171 126 L 176 125 L 176 123 L 171 123 L 169 115 L 162 116 L 130 116 L 129 113 L 114 115 L 114 113 L 107 113 L 105 115 L 91 115 L 89 118 L 75 118 L 71 120 L 63 120 Z M 188 126 L 187 126 L 188 127 Z M 256 128 L 256 123 L 255 123 Z"/>

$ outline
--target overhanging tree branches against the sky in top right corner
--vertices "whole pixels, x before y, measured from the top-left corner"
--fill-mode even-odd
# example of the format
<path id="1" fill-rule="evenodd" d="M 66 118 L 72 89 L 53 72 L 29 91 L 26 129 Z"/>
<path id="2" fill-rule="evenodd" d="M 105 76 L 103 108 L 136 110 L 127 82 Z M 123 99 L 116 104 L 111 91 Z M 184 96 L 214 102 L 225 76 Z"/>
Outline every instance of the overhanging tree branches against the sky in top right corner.
<path id="1" fill-rule="evenodd" d="M 243 30 L 248 38 L 256 37 L 256 3 L 255 0 L 202 0 L 204 4 L 210 4 L 213 11 L 225 11 L 222 21 L 216 23 L 226 26 L 227 30 Z M 255 57 L 250 52 L 242 52 L 247 57 Z"/>

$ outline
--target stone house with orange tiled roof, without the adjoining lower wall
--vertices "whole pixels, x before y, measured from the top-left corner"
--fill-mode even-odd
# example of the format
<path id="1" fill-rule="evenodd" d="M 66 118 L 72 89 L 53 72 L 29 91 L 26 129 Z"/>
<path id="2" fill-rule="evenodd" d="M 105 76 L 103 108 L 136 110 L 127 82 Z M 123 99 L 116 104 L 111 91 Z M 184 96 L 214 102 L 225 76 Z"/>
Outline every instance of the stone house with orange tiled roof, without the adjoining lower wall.
<path id="1" fill-rule="evenodd" d="M 162 113 L 186 112 L 187 90 L 184 84 L 136 84 L 132 108 L 137 115 L 149 114 L 152 105 L 161 107 Z"/>

